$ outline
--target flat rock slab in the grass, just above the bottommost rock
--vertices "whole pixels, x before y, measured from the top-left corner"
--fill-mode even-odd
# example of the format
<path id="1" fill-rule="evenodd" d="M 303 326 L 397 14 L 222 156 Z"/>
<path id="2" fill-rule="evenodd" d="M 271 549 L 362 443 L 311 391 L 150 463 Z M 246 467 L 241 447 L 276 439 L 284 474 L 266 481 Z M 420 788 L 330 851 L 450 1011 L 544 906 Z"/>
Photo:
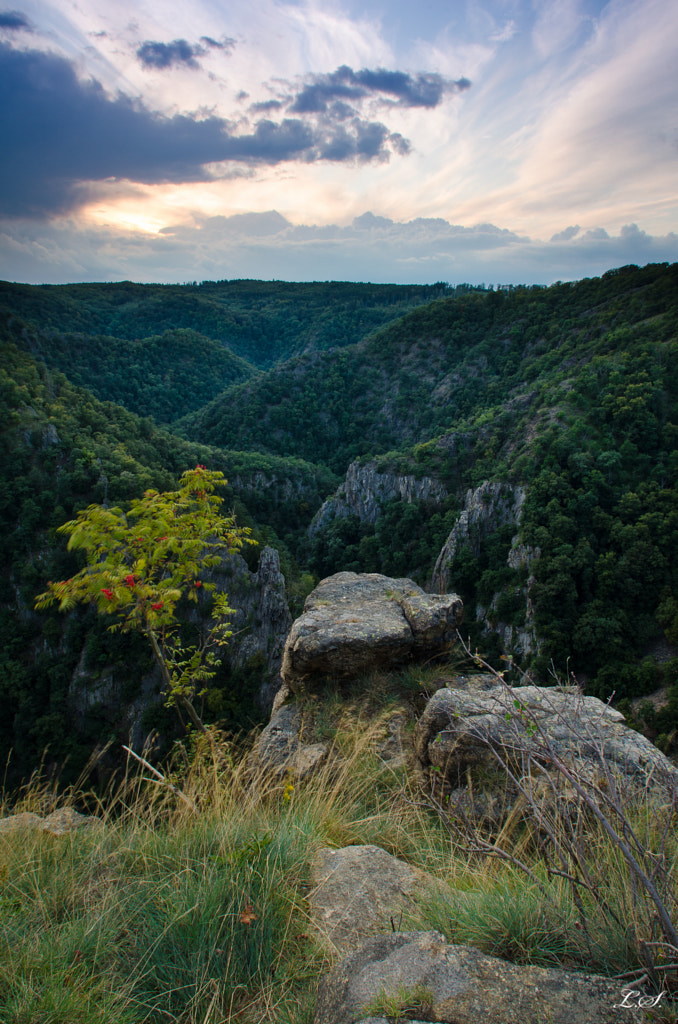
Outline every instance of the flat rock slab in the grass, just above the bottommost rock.
<path id="1" fill-rule="evenodd" d="M 378 846 L 320 850 L 311 865 L 311 921 L 339 952 L 358 948 L 370 936 L 392 933 L 404 914 L 435 897 L 441 884 Z"/>

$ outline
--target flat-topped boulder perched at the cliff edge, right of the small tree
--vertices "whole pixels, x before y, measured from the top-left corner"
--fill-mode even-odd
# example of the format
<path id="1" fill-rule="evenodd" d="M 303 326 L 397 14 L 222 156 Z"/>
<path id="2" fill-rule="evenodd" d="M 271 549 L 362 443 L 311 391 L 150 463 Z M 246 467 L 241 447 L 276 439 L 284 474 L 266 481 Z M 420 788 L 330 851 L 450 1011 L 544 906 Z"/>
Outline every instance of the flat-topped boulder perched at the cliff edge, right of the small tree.
<path id="1" fill-rule="evenodd" d="M 456 594 L 425 594 L 412 580 L 337 572 L 308 595 L 283 652 L 282 676 L 294 690 L 312 676 L 351 676 L 432 653 L 456 635 Z"/>

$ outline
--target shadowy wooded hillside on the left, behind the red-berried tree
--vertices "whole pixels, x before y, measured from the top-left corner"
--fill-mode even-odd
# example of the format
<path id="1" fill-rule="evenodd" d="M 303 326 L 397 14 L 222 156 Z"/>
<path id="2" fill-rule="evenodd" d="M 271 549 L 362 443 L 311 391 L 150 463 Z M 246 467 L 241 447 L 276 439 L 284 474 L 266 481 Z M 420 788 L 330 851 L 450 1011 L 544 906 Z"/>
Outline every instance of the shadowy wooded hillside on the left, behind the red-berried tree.
<path id="1" fill-rule="evenodd" d="M 254 525 L 255 515 L 268 524 L 265 537 L 255 529 L 260 545 L 271 541 L 285 552 L 276 528 L 303 532 L 336 478 L 301 460 L 177 438 L 36 361 L 13 343 L 14 328 L 0 325 L 0 750 L 11 762 L 9 778 L 30 773 L 47 750 L 49 763 L 68 759 L 77 774 L 94 746 L 126 739 L 119 733 L 124 716 L 117 726 L 103 713 L 102 692 L 118 686 L 132 705 L 151 662 L 142 640 L 111 634 L 93 611 L 34 611 L 47 580 L 78 566 L 56 527 L 93 502 L 124 505 L 149 487 L 172 489 L 183 470 L 209 462 L 230 479 L 224 497 L 239 521 Z M 255 549 L 253 568 L 257 558 Z M 284 565 L 293 586 L 298 570 L 289 555 Z M 76 714 L 74 681 L 83 674 L 91 696 Z M 260 717 L 253 693 L 261 681 L 238 682 L 231 674 L 220 685 L 235 728 Z M 243 686 L 250 687 L 246 695 Z M 170 723 L 166 716 L 157 724 L 171 736 Z"/>

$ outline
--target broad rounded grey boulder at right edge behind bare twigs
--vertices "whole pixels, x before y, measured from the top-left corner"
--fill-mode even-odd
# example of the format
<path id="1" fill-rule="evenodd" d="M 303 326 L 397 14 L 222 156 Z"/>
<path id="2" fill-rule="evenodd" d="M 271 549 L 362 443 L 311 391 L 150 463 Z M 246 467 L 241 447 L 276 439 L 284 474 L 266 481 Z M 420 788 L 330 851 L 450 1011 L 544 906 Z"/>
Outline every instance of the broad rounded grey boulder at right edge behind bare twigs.
<path id="1" fill-rule="evenodd" d="M 577 687 L 493 685 L 469 677 L 437 690 L 415 730 L 415 754 L 425 771 L 438 772 L 454 790 L 467 768 L 496 767 L 492 749 L 509 764 L 520 752 L 540 756 L 546 745 L 584 776 L 602 762 L 641 784 L 678 779 L 678 771 L 648 739 L 624 725 L 624 716 Z"/>

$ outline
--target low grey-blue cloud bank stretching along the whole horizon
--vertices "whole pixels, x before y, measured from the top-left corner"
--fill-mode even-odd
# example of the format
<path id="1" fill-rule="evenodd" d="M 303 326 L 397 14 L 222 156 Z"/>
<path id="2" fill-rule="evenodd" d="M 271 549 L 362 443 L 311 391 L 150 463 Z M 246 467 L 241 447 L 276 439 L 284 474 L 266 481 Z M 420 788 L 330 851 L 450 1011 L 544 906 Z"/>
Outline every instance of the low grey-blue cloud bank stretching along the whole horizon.
<path id="1" fill-rule="evenodd" d="M 363 214 L 347 226 L 294 225 L 274 210 L 205 217 L 156 236 L 78 229 L 73 220 L 16 222 L 4 232 L 0 279 L 36 284 L 224 278 L 551 284 L 629 263 L 678 260 L 677 234 L 650 236 L 633 225 L 554 246 L 494 224 L 464 226 L 440 217 L 401 222 Z"/>

